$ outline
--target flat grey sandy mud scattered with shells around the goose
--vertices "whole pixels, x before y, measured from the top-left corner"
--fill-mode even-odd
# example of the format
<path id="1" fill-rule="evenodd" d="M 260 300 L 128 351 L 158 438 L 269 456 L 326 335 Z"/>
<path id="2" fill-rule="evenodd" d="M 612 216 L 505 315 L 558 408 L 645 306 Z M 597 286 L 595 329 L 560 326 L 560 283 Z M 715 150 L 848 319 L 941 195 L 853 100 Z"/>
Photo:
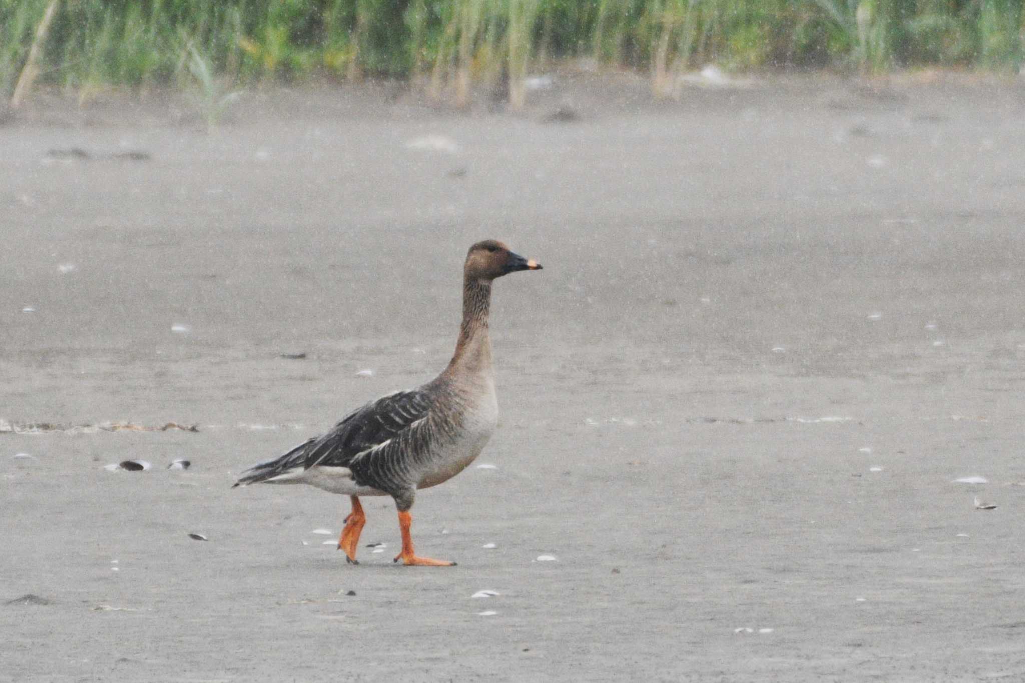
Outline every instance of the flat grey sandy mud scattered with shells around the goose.
<path id="1" fill-rule="evenodd" d="M 0 433 L 0 681 L 1025 680 L 1025 89 L 594 86 L 0 127 L 0 418 L 199 426 Z M 459 566 L 231 490 L 444 367 L 484 237 L 545 269 L 495 288 L 496 467 L 413 508 Z"/>

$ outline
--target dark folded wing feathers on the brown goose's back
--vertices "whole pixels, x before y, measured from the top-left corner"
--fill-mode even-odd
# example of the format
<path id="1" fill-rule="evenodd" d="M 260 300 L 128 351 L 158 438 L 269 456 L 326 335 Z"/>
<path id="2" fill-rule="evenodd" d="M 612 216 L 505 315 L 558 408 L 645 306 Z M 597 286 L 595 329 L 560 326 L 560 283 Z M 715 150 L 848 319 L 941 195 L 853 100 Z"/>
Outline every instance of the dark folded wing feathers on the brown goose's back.
<path id="1" fill-rule="evenodd" d="M 422 389 L 397 391 L 351 413 L 305 449 L 304 469 L 348 467 L 361 453 L 379 446 L 427 416 L 433 403 Z"/>

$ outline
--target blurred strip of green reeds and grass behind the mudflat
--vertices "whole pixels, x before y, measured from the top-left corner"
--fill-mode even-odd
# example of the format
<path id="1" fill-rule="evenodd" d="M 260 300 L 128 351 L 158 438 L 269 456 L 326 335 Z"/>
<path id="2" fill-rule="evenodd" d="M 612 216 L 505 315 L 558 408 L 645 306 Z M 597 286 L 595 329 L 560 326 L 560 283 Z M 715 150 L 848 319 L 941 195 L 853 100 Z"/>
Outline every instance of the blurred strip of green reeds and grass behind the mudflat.
<path id="1" fill-rule="evenodd" d="M 0 0 L 0 88 L 30 63 L 86 95 L 370 76 L 457 103 L 500 84 L 516 104 L 561 59 L 648 70 L 656 92 L 709 62 L 1017 73 L 1021 28 L 1022 0 Z"/>

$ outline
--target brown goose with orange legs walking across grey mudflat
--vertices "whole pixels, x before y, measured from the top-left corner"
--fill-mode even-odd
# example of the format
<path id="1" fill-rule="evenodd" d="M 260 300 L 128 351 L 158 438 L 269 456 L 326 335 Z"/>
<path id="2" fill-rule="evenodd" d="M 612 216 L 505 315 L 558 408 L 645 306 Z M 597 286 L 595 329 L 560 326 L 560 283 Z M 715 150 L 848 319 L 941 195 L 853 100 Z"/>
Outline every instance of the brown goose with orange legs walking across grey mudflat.
<path id="1" fill-rule="evenodd" d="M 348 414 L 333 429 L 288 453 L 253 465 L 236 486 L 304 483 L 348 496 L 352 512 L 338 538 L 345 561 L 359 564 L 356 550 L 366 515 L 361 496 L 391 496 L 399 510 L 407 565 L 451 566 L 419 557 L 410 537 L 410 509 L 418 488 L 435 486 L 465 469 L 480 455 L 498 421 L 488 310 L 491 284 L 541 264 L 509 251 L 501 242 L 478 242 L 462 269 L 462 324 L 448 367 L 426 384 L 396 391 Z"/>

